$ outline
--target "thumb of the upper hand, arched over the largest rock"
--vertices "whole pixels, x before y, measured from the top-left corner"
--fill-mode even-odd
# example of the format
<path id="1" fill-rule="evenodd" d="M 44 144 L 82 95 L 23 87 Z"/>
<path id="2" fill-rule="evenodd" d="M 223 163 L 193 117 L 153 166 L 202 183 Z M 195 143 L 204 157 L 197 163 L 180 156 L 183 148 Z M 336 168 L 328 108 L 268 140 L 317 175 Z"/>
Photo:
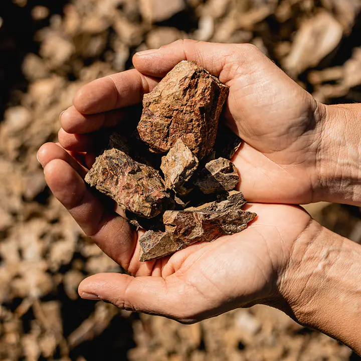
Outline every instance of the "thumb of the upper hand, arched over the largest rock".
<path id="1" fill-rule="evenodd" d="M 151 53 L 136 53 L 133 64 L 143 74 L 163 77 L 180 61 L 194 61 L 226 84 L 235 77 L 242 66 L 242 59 L 246 61 L 248 57 L 253 58 L 255 53 L 259 57 L 263 56 L 257 48 L 249 44 L 178 40 Z"/>

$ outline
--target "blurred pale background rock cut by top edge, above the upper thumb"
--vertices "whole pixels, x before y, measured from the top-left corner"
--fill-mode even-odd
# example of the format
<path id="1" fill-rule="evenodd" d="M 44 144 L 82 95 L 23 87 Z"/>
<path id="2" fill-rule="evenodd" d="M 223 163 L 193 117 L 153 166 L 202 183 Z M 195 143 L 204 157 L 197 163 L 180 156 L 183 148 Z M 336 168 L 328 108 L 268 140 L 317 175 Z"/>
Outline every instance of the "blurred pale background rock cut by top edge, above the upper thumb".
<path id="1" fill-rule="evenodd" d="M 143 19 L 150 23 L 167 20 L 187 8 L 184 0 L 140 0 L 139 7 Z"/>

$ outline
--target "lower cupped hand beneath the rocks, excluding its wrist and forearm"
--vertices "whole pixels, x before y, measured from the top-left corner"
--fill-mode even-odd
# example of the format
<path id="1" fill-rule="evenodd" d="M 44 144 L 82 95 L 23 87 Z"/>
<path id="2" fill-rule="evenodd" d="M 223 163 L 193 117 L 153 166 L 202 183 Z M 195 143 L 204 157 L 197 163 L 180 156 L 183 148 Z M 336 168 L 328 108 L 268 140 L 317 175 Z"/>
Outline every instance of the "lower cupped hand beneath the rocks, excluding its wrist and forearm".
<path id="1" fill-rule="evenodd" d="M 245 231 L 199 243 L 157 261 L 139 262 L 137 235 L 83 182 L 86 169 L 63 148 L 38 152 L 47 183 L 84 232 L 130 275 L 103 273 L 79 286 L 83 298 L 194 322 L 255 303 L 282 308 L 297 240 L 310 216 L 301 208 L 249 205 L 258 217 Z"/>

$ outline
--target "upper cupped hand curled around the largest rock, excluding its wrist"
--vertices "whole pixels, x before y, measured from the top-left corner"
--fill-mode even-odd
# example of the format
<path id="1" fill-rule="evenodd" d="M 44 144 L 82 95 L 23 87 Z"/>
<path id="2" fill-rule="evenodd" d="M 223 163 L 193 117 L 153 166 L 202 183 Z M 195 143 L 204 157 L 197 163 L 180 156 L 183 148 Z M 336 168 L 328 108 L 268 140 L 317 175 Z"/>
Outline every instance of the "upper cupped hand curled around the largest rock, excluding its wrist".
<path id="1" fill-rule="evenodd" d="M 91 152 L 97 132 L 128 121 L 127 107 L 141 102 L 182 60 L 197 62 L 230 86 L 222 121 L 245 141 L 233 160 L 246 198 L 284 204 L 318 201 L 325 108 L 248 44 L 187 40 L 136 54 L 136 69 L 95 80 L 78 91 L 74 105 L 61 116 L 62 146 Z"/>

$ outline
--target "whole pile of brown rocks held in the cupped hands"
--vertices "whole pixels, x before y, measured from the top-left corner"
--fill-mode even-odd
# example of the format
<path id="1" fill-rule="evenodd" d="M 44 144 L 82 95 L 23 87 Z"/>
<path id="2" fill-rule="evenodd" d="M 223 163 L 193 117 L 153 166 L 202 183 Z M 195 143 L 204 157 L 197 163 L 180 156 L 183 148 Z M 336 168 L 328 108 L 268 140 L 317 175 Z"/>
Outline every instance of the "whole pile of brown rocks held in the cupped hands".
<path id="1" fill-rule="evenodd" d="M 235 165 L 230 159 L 215 158 L 213 150 L 228 92 L 197 64 L 180 62 L 144 96 L 136 131 L 123 137 L 113 134 L 110 149 L 85 177 L 121 206 L 136 227 L 147 231 L 139 239 L 141 261 L 241 232 L 256 217 L 242 210 L 246 201 L 234 191 L 240 181 Z M 137 152 L 140 161 L 136 161 L 126 143 L 140 142 L 143 151 Z M 230 155 L 240 143 L 239 138 L 233 142 Z M 147 153 L 166 155 L 159 166 L 160 155 L 149 161 Z"/>

